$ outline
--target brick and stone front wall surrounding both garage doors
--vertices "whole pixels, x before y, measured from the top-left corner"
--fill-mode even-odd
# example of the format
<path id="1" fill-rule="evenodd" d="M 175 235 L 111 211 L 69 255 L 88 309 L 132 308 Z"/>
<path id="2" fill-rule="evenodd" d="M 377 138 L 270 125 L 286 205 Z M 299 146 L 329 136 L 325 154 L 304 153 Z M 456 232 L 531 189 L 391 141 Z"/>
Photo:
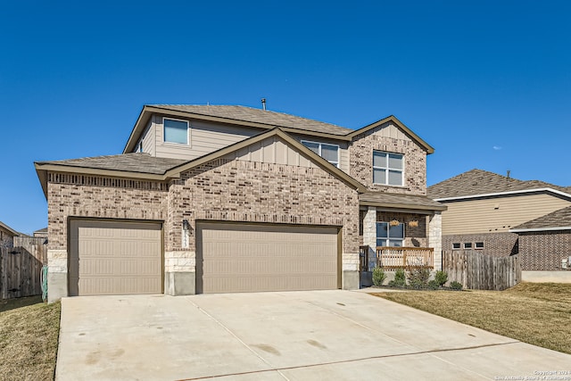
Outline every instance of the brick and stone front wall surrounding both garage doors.
<path id="1" fill-rule="evenodd" d="M 196 220 L 340 227 L 343 286 L 354 287 L 345 277 L 359 269 L 359 196 L 319 167 L 217 159 L 169 184 L 51 172 L 47 193 L 51 301 L 67 295 L 69 217 L 162 221 L 167 294 L 180 294 L 177 279 L 195 271 Z M 183 219 L 191 225 L 186 248 Z"/>

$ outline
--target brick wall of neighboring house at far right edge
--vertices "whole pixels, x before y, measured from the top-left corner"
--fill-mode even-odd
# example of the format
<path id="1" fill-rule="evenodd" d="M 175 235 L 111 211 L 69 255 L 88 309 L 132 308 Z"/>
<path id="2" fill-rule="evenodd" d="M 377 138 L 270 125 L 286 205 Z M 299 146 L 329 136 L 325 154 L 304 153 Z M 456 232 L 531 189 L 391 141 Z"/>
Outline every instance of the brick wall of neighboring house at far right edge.
<path id="1" fill-rule="evenodd" d="M 519 233 L 521 269 L 561 270 L 561 260 L 571 256 L 571 231 L 553 230 Z"/>

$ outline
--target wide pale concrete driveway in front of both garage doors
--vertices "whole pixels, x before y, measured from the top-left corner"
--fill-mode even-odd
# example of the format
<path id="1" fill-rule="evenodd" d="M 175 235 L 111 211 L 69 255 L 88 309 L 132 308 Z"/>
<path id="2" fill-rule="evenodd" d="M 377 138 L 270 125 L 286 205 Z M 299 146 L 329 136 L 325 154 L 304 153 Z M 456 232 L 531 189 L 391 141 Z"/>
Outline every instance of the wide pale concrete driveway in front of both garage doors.
<path id="1" fill-rule="evenodd" d="M 541 379 L 570 364 L 361 292 L 96 296 L 62 300 L 56 379 Z"/>

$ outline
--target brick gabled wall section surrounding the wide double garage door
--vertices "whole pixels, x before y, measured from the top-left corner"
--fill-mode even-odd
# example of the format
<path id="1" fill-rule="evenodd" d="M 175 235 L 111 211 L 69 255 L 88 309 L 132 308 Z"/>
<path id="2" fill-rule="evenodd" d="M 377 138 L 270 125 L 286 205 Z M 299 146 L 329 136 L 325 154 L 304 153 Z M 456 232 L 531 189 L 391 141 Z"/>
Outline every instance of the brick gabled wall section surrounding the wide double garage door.
<path id="1" fill-rule="evenodd" d="M 201 219 L 343 226 L 343 261 L 359 253 L 359 196 L 326 170 L 218 159 L 170 186 L 170 226 Z M 168 249 L 180 247 L 170 236 Z M 194 251 L 194 238 L 190 240 Z M 354 257 L 354 258 L 353 258 Z M 345 266 L 343 266 L 345 269 Z"/>

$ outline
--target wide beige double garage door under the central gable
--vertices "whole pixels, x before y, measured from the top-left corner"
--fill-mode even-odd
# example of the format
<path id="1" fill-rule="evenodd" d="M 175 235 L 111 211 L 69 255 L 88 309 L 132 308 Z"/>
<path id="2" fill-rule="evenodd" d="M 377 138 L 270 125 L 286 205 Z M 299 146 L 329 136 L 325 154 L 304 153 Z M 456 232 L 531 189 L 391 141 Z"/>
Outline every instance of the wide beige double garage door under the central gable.
<path id="1" fill-rule="evenodd" d="M 198 223 L 197 293 L 339 288 L 338 229 Z"/>

